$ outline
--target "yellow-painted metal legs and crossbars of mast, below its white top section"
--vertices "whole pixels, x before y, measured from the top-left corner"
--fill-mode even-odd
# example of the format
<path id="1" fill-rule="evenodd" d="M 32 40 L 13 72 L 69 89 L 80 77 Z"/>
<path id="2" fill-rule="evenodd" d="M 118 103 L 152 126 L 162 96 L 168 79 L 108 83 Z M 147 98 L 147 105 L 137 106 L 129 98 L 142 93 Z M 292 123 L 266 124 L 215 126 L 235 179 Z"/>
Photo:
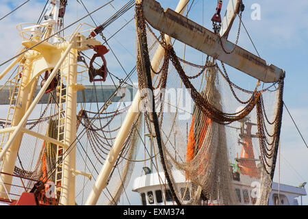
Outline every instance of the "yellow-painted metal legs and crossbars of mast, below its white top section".
<path id="1" fill-rule="evenodd" d="M 60 172 L 60 183 L 61 192 L 60 204 L 61 205 L 75 205 L 75 175 L 81 174 L 91 178 L 90 175 L 75 170 L 75 147 L 73 142 L 76 138 L 76 107 L 77 107 L 77 90 L 84 89 L 84 86 L 77 83 L 77 50 L 84 51 L 90 49 L 89 45 L 99 45 L 101 42 L 86 38 L 86 36 L 78 33 L 81 25 L 78 25 L 73 34 L 68 36 L 67 41 L 64 38 L 55 36 L 59 38 L 56 44 L 51 44 L 48 41 L 41 42 L 42 39 L 47 39 L 51 36 L 51 32 L 54 32 L 49 26 L 34 24 L 32 27 L 23 28 L 23 24 L 18 25 L 18 30 L 21 32 L 23 37 L 23 46 L 30 48 L 25 54 L 20 55 L 16 58 L 0 75 L 0 79 L 12 69 L 14 65 L 19 62 L 19 69 L 14 80 L 11 80 L 12 92 L 10 90 L 10 109 L 7 118 L 7 123 L 5 123 L 5 129 L 2 129 L 0 133 L 8 133 L 8 142 L 5 142 L 2 138 L 0 151 L 0 160 L 2 160 L 1 171 L 12 174 L 14 171 L 14 166 L 16 162 L 16 156 L 18 154 L 18 149 L 23 138 L 23 133 L 27 133 L 36 138 L 41 138 L 47 142 L 52 142 L 57 144 L 58 149 L 63 150 L 62 152 L 67 155 L 63 157 L 63 163 L 58 167 L 61 168 Z M 37 27 L 44 27 L 46 31 L 41 32 Z M 35 27 L 35 28 L 34 28 Z M 53 40 L 53 42 L 56 40 Z M 38 44 L 40 42 L 40 44 Z M 34 45 L 36 45 L 34 47 Z M 33 47 L 33 48 L 32 48 Z M 36 95 L 34 99 L 34 94 L 37 88 L 37 83 L 40 75 L 46 71 L 51 70 L 51 73 L 42 86 L 42 89 Z M 44 91 L 57 74 L 60 69 L 61 78 L 65 80 L 66 90 L 65 94 L 60 95 L 60 100 L 62 100 L 63 105 L 60 107 L 60 114 L 64 113 L 64 118 L 59 119 L 60 123 L 63 122 L 62 128 L 64 138 L 63 140 L 55 140 L 49 138 L 48 136 L 43 136 L 40 133 L 25 129 L 25 124 L 29 115 L 34 110 L 38 101 L 41 99 Z M 21 74 L 19 74 L 21 73 Z M 18 75 L 22 75 L 21 79 Z M 62 92 L 64 88 L 61 88 Z M 64 107 L 64 108 L 63 108 Z M 10 111 L 14 111 L 12 114 Z M 12 127 L 7 127 L 9 115 L 12 115 Z M 60 128 L 59 128 L 60 129 Z M 8 137 L 7 135 L 7 137 Z M 59 150 L 57 150 L 59 151 Z M 68 153 L 69 152 L 69 153 Z M 57 155 L 59 158 L 59 155 Z M 8 192 L 10 192 L 10 184 L 12 183 L 12 177 L 10 175 L 1 175 L 3 183 L 0 185 L 0 197 L 8 197 Z M 5 185 L 5 186 L 3 186 Z"/>

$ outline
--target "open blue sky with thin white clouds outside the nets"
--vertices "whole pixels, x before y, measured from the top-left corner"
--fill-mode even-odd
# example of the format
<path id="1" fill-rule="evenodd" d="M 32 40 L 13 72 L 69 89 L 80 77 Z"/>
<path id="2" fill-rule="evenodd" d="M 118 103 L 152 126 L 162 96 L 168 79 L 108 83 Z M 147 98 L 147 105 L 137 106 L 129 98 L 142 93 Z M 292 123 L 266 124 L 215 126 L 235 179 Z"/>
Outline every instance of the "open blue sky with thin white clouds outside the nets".
<path id="1" fill-rule="evenodd" d="M 10 12 L 10 10 L 23 2 L 24 1 L 21 0 L 1 0 L 0 16 Z M 89 11 L 96 9 L 106 2 L 107 1 L 84 0 Z M 115 0 L 112 6 L 119 9 L 124 2 L 123 0 Z M 162 4 L 163 8 L 168 7 L 175 9 L 177 5 L 176 0 L 160 0 L 159 2 Z M 16 25 L 22 22 L 36 22 L 44 3 L 45 1 L 30 0 L 22 8 L 0 21 L 0 28 L 2 29 L 0 32 L 1 62 L 12 57 L 21 46 L 21 38 L 18 36 Z M 260 5 L 260 20 L 253 20 L 251 18 L 251 14 L 254 12 L 251 6 L 255 3 Z M 244 4 L 246 8 L 242 19 L 259 54 L 268 64 L 274 64 L 285 70 L 284 101 L 303 134 L 303 137 L 308 142 L 308 1 L 294 0 L 291 3 L 287 0 L 247 0 L 244 1 Z M 227 1 L 225 0 L 222 12 L 224 12 L 226 5 Z M 103 23 L 115 12 L 112 6 L 108 5 L 99 12 L 94 13 L 92 15 L 94 21 Z M 196 23 L 211 29 L 210 18 L 214 14 L 215 8 L 216 1 L 214 0 L 195 0 L 192 5 L 192 13 L 190 13 L 188 17 Z M 70 0 L 68 1 L 64 22 L 68 25 L 84 14 L 86 14 L 86 12 L 84 8 L 82 8 L 82 5 L 75 0 Z M 106 38 L 111 36 L 114 31 L 132 17 L 133 10 L 127 12 L 123 18 L 120 18 L 110 27 L 107 27 L 104 31 Z M 84 22 L 92 25 L 90 18 L 86 18 Z M 229 40 L 235 41 L 236 31 L 237 22 L 235 21 Z M 68 32 L 69 30 L 66 31 L 66 33 Z M 135 31 L 133 21 L 110 40 L 110 45 L 112 45 L 112 49 L 114 49 L 125 70 L 129 72 L 136 64 L 134 57 Z M 243 28 L 240 34 L 239 45 L 255 53 L 253 45 Z M 118 77 L 125 77 L 124 70 L 119 67 L 118 62 L 113 61 L 114 56 L 112 53 L 108 53 L 106 58 L 109 68 L 112 69 Z M 194 61 L 201 64 L 201 55 Z M 5 66 L 0 66 L 0 70 L 3 70 Z M 253 86 L 245 84 L 245 79 L 248 76 L 239 73 L 237 70 L 229 70 L 229 76 L 232 81 L 236 81 L 243 86 Z M 136 81 L 136 77 L 134 77 L 133 82 Z M 108 83 L 111 83 L 111 81 Z M 281 129 L 281 183 L 299 185 L 303 181 L 307 181 L 307 157 L 308 149 L 296 131 L 287 111 L 284 110 Z M 277 174 L 274 179 L 278 181 Z M 130 188 L 128 188 L 128 190 L 129 189 Z M 136 194 L 132 194 L 132 196 L 136 197 Z M 138 204 L 138 198 L 136 198 L 136 200 L 136 204 Z M 308 198 L 304 197 L 303 202 L 305 205 L 308 205 Z"/>

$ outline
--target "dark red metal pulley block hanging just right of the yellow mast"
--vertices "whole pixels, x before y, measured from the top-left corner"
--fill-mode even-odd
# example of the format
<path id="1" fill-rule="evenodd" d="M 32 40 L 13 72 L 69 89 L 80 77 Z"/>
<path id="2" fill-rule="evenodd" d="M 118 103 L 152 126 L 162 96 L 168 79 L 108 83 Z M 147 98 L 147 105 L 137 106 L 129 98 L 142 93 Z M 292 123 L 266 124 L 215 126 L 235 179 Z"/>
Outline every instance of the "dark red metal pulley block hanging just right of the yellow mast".
<path id="1" fill-rule="evenodd" d="M 107 77 L 107 62 L 105 60 L 104 55 L 109 51 L 109 49 L 107 49 L 107 47 L 105 47 L 104 45 L 89 46 L 89 47 L 97 52 L 92 56 L 92 59 L 90 60 L 90 66 L 88 70 L 90 82 L 105 81 Z M 93 62 L 97 57 L 101 57 L 101 59 L 103 60 L 101 68 L 93 67 Z M 101 76 L 101 78 L 94 79 L 94 77 L 96 77 L 97 75 Z"/>

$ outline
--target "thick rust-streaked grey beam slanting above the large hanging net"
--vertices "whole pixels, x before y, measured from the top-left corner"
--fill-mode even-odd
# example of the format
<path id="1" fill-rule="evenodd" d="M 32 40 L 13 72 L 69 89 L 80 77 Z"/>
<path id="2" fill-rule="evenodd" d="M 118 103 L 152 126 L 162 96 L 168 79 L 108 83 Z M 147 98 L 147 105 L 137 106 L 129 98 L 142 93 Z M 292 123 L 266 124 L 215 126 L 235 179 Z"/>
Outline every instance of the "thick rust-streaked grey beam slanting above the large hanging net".
<path id="1" fill-rule="evenodd" d="M 266 83 L 276 82 L 285 76 L 285 71 L 281 68 L 266 64 L 266 61 L 257 55 L 249 53 L 225 38 L 220 38 L 185 16 L 169 8 L 164 11 L 157 1 L 143 0 L 142 7 L 146 21 L 152 27 L 233 68 Z M 232 54 L 227 54 L 222 47 L 227 51 L 232 51 L 234 47 L 235 49 Z"/>

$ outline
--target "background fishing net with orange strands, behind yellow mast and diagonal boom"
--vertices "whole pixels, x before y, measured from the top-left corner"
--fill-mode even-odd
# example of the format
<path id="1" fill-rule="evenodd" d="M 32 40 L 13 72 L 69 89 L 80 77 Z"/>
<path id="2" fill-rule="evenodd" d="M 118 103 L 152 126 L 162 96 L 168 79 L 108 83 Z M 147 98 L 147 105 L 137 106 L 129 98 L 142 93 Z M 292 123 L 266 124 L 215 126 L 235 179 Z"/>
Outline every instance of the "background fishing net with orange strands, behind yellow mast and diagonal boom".
<path id="1" fill-rule="evenodd" d="M 77 80 L 80 83 L 86 83 L 87 79 L 88 77 L 78 74 Z M 64 82 L 61 86 L 66 88 L 68 84 Z M 102 84 L 97 84 L 96 86 L 101 88 Z M 64 129 L 63 126 L 59 127 L 59 115 L 61 114 L 61 118 L 64 118 L 65 112 L 64 105 L 59 103 L 59 87 L 47 94 L 49 99 L 46 105 L 36 106 L 34 112 L 40 112 L 40 114 L 32 116 L 27 121 L 26 129 L 55 140 L 63 140 L 62 136 L 58 136 L 58 133 L 63 133 Z M 114 88 L 116 90 L 116 86 Z M 94 85 L 93 90 L 95 89 Z M 121 96 L 120 92 L 118 93 L 119 95 L 105 99 L 102 103 L 80 103 L 77 105 L 77 138 L 75 144 L 70 145 L 69 149 L 63 152 L 62 158 L 57 157 L 57 144 L 24 133 L 18 149 L 18 157 L 16 157 L 12 186 L 7 187 L 10 198 L 13 200 L 18 199 L 25 189 L 27 191 L 31 190 L 38 181 L 55 184 L 55 170 L 63 168 L 63 159 L 69 153 L 72 153 L 72 149 L 75 148 L 75 170 L 84 173 L 84 175 L 75 174 L 75 201 L 77 205 L 84 205 L 114 144 L 118 130 L 121 127 L 121 121 L 124 120 L 130 106 L 130 95 L 128 94 L 128 98 L 125 98 L 125 95 L 122 94 L 123 96 Z M 16 99 L 18 99 L 18 95 L 19 93 Z M 64 93 L 63 99 L 66 99 L 65 95 Z M 100 94 L 97 94 L 96 91 L 92 92 L 90 98 L 97 99 L 96 95 Z M 113 99 L 116 99 L 116 101 L 113 102 Z M 100 113 L 99 109 L 102 109 Z M 133 166 L 136 163 L 136 154 L 140 144 L 140 138 L 136 138 L 136 136 L 140 132 L 140 121 L 140 115 L 133 121 L 127 139 L 107 181 L 107 187 L 103 190 L 97 205 L 117 205 L 120 201 L 120 196 L 125 192 L 131 179 Z M 10 118 L 7 118 L 1 121 L 0 124 L 1 127 L 8 128 L 11 126 L 11 122 Z M 9 136 L 8 133 L 2 134 L 1 147 L 8 141 Z M 4 179 L 8 175 L 2 175 L 2 177 Z M 2 183 L 0 184 L 2 185 Z M 61 184 L 57 183 L 55 188 L 60 188 L 60 186 Z M 5 198 L 9 197 L 6 195 L 5 189 L 3 189 L 3 196 Z M 57 194 L 57 202 L 61 196 L 62 194 Z"/>

